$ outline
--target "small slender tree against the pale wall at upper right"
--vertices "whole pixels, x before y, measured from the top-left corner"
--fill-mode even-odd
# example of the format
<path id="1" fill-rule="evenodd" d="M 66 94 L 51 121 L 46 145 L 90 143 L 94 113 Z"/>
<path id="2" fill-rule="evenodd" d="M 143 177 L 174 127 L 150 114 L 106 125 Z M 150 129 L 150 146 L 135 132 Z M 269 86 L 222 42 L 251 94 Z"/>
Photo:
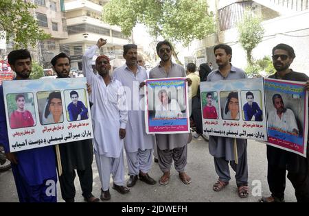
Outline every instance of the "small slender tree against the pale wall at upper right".
<path id="1" fill-rule="evenodd" d="M 260 18 L 250 12 L 244 14 L 242 22 L 238 23 L 239 42 L 247 53 L 249 67 L 253 64 L 252 51 L 262 41 L 264 27 Z"/>

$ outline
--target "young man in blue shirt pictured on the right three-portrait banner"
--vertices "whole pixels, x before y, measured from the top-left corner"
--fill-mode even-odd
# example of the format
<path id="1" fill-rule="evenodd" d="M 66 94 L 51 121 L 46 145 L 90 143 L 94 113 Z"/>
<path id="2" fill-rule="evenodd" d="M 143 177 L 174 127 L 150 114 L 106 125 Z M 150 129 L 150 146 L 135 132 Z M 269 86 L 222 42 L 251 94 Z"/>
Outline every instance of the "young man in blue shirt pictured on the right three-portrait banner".
<path id="1" fill-rule="evenodd" d="M 262 110 L 260 106 L 253 101 L 254 95 L 251 91 L 246 93 L 247 103 L 244 104 L 244 120 L 246 121 L 262 121 Z"/>

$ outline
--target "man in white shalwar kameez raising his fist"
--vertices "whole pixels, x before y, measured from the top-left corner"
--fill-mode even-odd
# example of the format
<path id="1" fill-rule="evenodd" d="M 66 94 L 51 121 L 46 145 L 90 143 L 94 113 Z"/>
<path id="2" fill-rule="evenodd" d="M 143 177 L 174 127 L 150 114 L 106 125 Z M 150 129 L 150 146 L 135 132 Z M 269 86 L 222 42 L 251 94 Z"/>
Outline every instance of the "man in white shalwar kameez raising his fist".
<path id="1" fill-rule="evenodd" d="M 110 175 L 113 175 L 113 189 L 119 193 L 128 193 L 130 190 L 124 187 L 124 137 L 126 136 L 126 123 L 128 111 L 126 97 L 122 84 L 108 74 L 111 65 L 107 56 L 101 55 L 95 60 L 93 73 L 91 67 L 95 51 L 106 44 L 106 40 L 100 38 L 97 45 L 90 47 L 82 57 L 83 71 L 87 82 L 91 85 L 90 101 L 91 118 L 93 123 L 93 144 L 95 160 L 102 184 L 101 200 L 111 199 L 109 193 Z"/>

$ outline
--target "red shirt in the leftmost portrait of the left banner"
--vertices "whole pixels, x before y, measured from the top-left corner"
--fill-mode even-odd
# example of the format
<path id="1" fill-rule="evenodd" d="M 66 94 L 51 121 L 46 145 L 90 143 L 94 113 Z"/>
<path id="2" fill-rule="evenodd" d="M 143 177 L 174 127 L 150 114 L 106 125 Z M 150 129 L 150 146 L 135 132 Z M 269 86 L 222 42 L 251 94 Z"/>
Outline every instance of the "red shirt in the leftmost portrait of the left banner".
<path id="1" fill-rule="evenodd" d="M 34 125 L 31 112 L 25 110 L 25 112 L 14 111 L 10 117 L 10 126 L 14 128 L 26 128 Z"/>

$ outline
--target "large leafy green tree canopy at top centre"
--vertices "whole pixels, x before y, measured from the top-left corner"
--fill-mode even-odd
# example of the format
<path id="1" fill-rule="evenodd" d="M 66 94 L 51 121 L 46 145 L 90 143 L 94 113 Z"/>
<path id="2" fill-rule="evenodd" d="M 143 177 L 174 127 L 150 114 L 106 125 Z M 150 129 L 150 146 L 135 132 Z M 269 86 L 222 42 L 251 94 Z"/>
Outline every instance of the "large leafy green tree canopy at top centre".
<path id="1" fill-rule="evenodd" d="M 118 25 L 126 36 L 137 23 L 148 27 L 151 36 L 163 36 L 184 46 L 215 31 L 214 15 L 206 0 L 111 0 L 103 8 L 102 19 Z M 176 51 L 173 56 L 178 63 Z"/>

